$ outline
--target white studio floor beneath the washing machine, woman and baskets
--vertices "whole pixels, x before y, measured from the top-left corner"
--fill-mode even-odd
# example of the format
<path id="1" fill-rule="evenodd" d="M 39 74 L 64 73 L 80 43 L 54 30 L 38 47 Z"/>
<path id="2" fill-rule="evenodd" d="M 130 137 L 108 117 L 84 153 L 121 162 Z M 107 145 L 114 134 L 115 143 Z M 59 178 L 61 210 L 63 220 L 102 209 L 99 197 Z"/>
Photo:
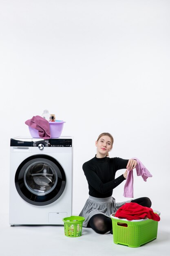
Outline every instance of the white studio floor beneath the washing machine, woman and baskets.
<path id="1" fill-rule="evenodd" d="M 166 256 L 170 255 L 170 224 L 161 217 L 157 239 L 130 248 L 113 243 L 113 235 L 99 235 L 83 228 L 82 236 L 64 236 L 64 226 L 11 227 L 7 214 L 0 214 L 0 256 Z"/>

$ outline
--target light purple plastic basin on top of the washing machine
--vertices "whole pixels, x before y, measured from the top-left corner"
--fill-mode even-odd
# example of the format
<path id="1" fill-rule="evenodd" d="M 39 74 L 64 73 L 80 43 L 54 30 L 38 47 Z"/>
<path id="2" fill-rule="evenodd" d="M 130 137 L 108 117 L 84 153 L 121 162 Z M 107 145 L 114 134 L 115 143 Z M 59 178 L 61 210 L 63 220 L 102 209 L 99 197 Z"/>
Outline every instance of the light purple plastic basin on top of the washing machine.
<path id="1" fill-rule="evenodd" d="M 51 138 L 59 138 L 60 137 L 64 123 L 65 123 L 64 121 L 49 122 Z M 29 126 L 29 132 L 33 138 L 40 138 L 40 136 L 38 134 L 38 130 L 32 128 L 31 126 Z"/>

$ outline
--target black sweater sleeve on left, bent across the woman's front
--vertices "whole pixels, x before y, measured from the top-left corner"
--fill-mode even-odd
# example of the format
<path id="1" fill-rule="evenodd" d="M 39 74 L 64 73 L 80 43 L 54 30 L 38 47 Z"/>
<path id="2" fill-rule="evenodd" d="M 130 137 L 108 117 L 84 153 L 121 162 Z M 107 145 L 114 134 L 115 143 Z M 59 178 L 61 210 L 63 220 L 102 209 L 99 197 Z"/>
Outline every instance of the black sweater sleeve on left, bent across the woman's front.
<path id="1" fill-rule="evenodd" d="M 83 165 L 83 171 L 86 176 L 86 179 L 88 183 L 99 193 L 105 194 L 108 191 L 114 189 L 117 187 L 121 182 L 126 180 L 124 178 L 124 175 L 120 175 L 117 177 L 115 180 L 111 180 L 110 182 L 103 183 L 100 178 L 97 176 L 97 174 L 93 171 L 91 166 L 86 166 L 85 164 Z"/>

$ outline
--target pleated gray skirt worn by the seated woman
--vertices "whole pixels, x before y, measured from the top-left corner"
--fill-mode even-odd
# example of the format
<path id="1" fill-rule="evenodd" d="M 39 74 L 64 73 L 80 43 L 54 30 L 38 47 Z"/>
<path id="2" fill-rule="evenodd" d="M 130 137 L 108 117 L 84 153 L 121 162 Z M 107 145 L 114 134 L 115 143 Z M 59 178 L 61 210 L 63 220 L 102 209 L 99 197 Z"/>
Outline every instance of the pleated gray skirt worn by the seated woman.
<path id="1" fill-rule="evenodd" d="M 129 202 L 131 202 L 131 200 L 116 203 L 115 198 L 112 196 L 108 198 L 94 198 L 93 196 L 89 195 L 89 198 L 79 214 L 79 216 L 85 218 L 83 227 L 87 227 L 87 224 L 93 215 L 101 213 L 107 217 L 110 217 L 110 214 L 115 213 L 122 205 Z"/>

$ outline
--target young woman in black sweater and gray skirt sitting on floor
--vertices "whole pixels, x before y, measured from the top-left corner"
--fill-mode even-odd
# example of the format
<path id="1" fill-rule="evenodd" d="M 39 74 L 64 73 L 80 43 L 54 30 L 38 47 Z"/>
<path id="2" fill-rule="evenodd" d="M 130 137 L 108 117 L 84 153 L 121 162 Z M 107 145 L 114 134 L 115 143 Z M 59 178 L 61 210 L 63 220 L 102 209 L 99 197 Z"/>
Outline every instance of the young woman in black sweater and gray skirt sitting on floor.
<path id="1" fill-rule="evenodd" d="M 126 202 L 136 202 L 142 206 L 151 207 L 149 198 L 137 198 L 116 203 L 112 197 L 113 189 L 127 178 L 127 170 L 137 166 L 134 159 L 108 157 L 113 146 L 113 137 L 104 132 L 99 135 L 96 143 L 97 154 L 83 164 L 83 171 L 88 182 L 89 198 L 79 216 L 85 218 L 83 227 L 91 227 L 99 234 L 112 233 L 110 214 L 115 213 Z M 115 179 L 117 170 L 126 169 L 124 174 Z"/>

